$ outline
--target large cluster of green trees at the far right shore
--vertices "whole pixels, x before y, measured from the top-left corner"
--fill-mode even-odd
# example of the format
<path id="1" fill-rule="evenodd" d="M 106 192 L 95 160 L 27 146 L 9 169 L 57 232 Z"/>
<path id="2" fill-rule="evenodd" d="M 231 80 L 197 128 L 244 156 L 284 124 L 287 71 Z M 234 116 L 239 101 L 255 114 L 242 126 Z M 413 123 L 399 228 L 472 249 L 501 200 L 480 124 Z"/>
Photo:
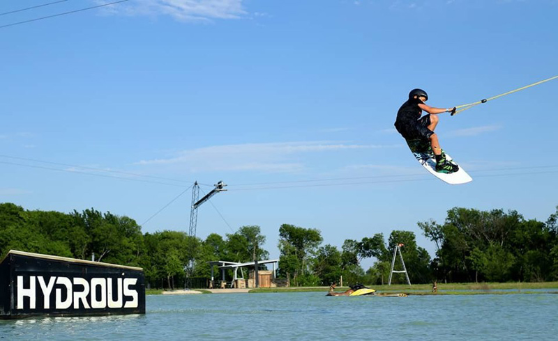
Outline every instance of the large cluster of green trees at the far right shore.
<path id="1" fill-rule="evenodd" d="M 557 207 L 558 213 L 558 207 Z M 446 221 L 418 223 L 437 245 L 432 270 L 439 279 L 545 281 L 558 279 L 557 217 L 526 221 L 518 212 L 455 207 Z"/>

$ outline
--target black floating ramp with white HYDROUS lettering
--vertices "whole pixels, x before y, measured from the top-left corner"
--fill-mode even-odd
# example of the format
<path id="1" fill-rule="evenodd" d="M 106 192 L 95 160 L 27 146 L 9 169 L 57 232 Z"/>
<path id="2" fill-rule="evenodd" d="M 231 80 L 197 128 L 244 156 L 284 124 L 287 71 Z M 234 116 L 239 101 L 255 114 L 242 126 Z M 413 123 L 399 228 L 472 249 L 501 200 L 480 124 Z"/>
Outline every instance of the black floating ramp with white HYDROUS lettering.
<path id="1" fill-rule="evenodd" d="M 142 268 L 10 251 L 0 263 L 0 319 L 145 314 Z"/>

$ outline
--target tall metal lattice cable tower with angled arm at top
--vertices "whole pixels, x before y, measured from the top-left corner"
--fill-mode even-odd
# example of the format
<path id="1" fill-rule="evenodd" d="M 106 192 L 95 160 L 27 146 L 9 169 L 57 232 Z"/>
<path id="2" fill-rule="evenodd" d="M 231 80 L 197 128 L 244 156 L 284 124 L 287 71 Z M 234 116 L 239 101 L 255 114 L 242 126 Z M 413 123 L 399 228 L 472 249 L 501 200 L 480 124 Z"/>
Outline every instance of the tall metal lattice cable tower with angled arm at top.
<path id="1" fill-rule="evenodd" d="M 190 252 L 188 255 L 188 262 L 186 263 L 186 267 L 184 267 L 184 271 L 186 272 L 186 282 L 184 283 L 184 287 L 186 289 L 190 289 L 192 286 L 192 276 L 194 274 L 194 265 L 195 265 L 195 237 L 196 237 L 196 229 L 197 229 L 197 207 L 202 205 L 207 200 L 209 200 L 212 196 L 215 196 L 217 193 L 222 191 L 227 191 L 224 187 L 227 186 L 223 181 L 218 182 L 215 184 L 215 188 L 212 189 L 209 193 L 207 193 L 203 198 L 199 199 L 199 185 L 197 181 L 194 183 L 192 187 L 192 209 L 190 210 L 190 228 L 188 229 L 188 242 L 190 243 Z"/>

